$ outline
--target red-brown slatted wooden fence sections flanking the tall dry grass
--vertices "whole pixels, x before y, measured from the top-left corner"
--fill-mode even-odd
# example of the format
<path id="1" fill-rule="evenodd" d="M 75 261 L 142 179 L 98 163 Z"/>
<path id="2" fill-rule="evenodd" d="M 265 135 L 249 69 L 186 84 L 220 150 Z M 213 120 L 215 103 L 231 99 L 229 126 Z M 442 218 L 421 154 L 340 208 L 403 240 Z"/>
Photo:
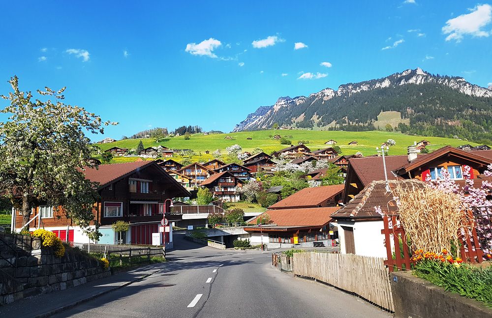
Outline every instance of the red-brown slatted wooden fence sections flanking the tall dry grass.
<path id="1" fill-rule="evenodd" d="M 484 253 L 477 234 L 477 222 L 470 212 L 470 224 L 465 225 L 459 231 L 460 256 L 468 263 L 481 263 L 484 261 Z M 389 271 L 410 269 L 413 251 L 410 250 L 405 230 L 400 224 L 398 215 L 383 217 L 384 242 L 387 259 L 384 263 Z"/>

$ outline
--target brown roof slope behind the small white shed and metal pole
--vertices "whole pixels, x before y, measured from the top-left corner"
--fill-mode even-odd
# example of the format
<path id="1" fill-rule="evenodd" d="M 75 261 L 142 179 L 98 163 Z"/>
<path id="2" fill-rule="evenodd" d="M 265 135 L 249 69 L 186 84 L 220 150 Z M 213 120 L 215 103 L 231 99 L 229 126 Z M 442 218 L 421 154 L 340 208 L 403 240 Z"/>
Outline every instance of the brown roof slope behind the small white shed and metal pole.
<path id="1" fill-rule="evenodd" d="M 388 180 L 403 179 L 393 171 L 408 163 L 407 155 L 385 156 L 386 174 Z M 384 180 L 383 157 L 371 156 L 362 158 L 350 158 L 349 166 L 357 174 L 364 186 L 374 180 Z"/>

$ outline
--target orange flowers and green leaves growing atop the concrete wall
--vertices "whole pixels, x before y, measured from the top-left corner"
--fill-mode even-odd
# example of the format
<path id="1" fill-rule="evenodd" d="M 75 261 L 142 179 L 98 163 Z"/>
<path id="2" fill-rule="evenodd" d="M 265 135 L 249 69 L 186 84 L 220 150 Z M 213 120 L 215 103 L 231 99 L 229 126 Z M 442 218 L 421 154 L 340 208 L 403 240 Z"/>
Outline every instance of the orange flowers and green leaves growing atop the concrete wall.
<path id="1" fill-rule="evenodd" d="M 491 260 L 492 255 L 489 254 L 488 258 Z M 478 268 L 463 264 L 460 258 L 454 259 L 447 250 L 440 254 L 419 250 L 412 260 L 415 276 L 492 307 L 492 266 Z"/>

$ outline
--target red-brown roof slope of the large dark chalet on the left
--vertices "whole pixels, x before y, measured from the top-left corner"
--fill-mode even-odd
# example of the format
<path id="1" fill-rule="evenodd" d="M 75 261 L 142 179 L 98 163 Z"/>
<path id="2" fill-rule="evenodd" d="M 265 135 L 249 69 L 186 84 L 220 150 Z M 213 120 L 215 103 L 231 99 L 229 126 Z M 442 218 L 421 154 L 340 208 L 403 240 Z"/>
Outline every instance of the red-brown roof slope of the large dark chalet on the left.
<path id="1" fill-rule="evenodd" d="M 83 173 L 86 179 L 98 182 L 101 186 L 116 180 L 127 173 L 131 173 L 139 168 L 152 165 L 153 161 L 135 161 L 112 165 L 99 165 L 97 168 L 85 167 Z"/>

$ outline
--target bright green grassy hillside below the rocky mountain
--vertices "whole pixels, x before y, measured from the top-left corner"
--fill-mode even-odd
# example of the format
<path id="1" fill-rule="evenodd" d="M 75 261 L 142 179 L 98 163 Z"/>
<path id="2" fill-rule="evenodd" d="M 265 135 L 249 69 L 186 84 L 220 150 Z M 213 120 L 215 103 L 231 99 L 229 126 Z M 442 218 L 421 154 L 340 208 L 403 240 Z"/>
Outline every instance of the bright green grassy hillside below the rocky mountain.
<path id="1" fill-rule="evenodd" d="M 286 136 L 292 135 L 293 138 L 289 140 L 292 144 L 297 144 L 300 140 L 309 141 L 307 146 L 311 150 L 317 150 L 327 147 L 324 143 L 330 139 L 336 140 L 338 146 L 341 148 L 343 154 L 353 154 L 357 151 L 362 152 L 365 156 L 369 156 L 376 153 L 376 146 L 380 146 L 381 143 L 386 142 L 388 139 L 396 141 L 396 145 L 390 147 L 389 154 L 406 154 L 406 147 L 412 145 L 414 141 L 418 142 L 424 137 L 421 136 L 408 136 L 401 133 L 389 133 L 382 131 L 366 131 L 366 132 L 348 132 L 348 131 L 314 131 L 314 130 L 261 130 L 251 132 L 239 132 L 229 134 L 212 134 L 204 136 L 203 134 L 192 135 L 189 140 L 184 140 L 183 136 L 167 138 L 160 143 L 156 143 L 153 139 L 127 139 L 110 144 L 97 144 L 102 150 L 109 149 L 114 146 L 123 147 L 127 149 L 136 148 L 139 141 L 142 140 L 144 147 L 163 145 L 173 149 L 193 149 L 197 156 L 194 156 L 194 161 L 206 161 L 211 160 L 212 152 L 216 149 L 221 149 L 222 153 L 225 152 L 225 148 L 230 145 L 241 145 L 244 150 L 253 150 L 256 147 L 263 149 L 266 153 L 285 148 L 287 145 L 281 145 L 278 140 L 273 139 L 270 136 L 274 135 Z M 226 136 L 231 136 L 232 140 L 224 139 Z M 246 140 L 246 138 L 252 138 L 252 140 Z M 425 139 L 431 142 L 429 149 L 438 149 L 444 145 L 477 145 L 461 141 L 458 139 L 449 139 L 441 137 L 425 137 Z M 349 142 L 357 140 L 359 145 L 351 146 L 347 145 Z M 205 154 L 205 151 L 209 150 L 209 155 Z M 176 159 L 180 159 L 177 157 Z M 136 157 L 129 158 L 115 158 L 115 162 L 125 162 L 136 160 Z"/>

